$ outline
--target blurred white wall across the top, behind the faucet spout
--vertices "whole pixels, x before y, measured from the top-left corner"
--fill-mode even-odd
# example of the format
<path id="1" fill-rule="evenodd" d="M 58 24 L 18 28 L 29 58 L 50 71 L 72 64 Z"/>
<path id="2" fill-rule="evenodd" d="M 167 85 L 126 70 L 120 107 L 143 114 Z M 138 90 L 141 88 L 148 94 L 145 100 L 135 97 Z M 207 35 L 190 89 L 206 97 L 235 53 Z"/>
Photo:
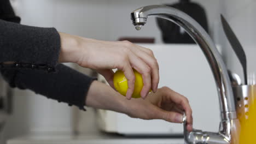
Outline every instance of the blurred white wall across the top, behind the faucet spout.
<path id="1" fill-rule="evenodd" d="M 152 22 L 148 22 L 141 31 L 136 31 L 131 24 L 130 13 L 144 5 L 173 2 L 177 1 L 20 0 L 17 11 L 22 17 L 21 23 L 26 25 L 56 27 L 61 32 L 102 40 L 117 40 L 121 36 L 154 37 L 160 43 L 160 31 L 155 19 L 150 19 Z M 195 2 L 206 8 L 210 27 L 213 27 L 219 1 Z"/>

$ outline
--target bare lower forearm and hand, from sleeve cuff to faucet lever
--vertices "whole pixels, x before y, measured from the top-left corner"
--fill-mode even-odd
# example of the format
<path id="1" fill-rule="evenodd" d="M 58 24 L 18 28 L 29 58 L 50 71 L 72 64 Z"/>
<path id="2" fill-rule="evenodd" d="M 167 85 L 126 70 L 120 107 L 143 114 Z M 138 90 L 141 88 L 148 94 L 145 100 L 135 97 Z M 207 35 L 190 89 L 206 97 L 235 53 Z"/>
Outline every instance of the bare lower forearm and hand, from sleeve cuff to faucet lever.
<path id="1" fill-rule="evenodd" d="M 187 129 L 192 130 L 193 118 L 188 99 L 170 88 L 159 88 L 156 93 L 144 99 L 126 100 L 125 97 L 104 83 L 92 82 L 86 98 L 86 105 L 97 109 L 126 113 L 142 119 L 164 119 L 182 123 L 183 111 L 187 116 Z"/>

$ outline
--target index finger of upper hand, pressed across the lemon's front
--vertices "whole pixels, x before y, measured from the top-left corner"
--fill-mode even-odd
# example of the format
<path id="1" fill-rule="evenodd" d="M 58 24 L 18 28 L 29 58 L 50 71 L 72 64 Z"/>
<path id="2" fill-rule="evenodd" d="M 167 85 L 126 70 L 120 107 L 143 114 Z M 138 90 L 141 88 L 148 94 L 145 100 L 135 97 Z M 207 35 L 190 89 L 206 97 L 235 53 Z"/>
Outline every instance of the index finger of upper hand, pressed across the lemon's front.
<path id="1" fill-rule="evenodd" d="M 130 63 L 127 62 L 125 66 L 121 69 L 124 72 L 124 75 L 128 81 L 128 89 L 126 92 L 126 98 L 131 99 L 132 93 L 134 91 L 135 75 L 133 73 Z"/>

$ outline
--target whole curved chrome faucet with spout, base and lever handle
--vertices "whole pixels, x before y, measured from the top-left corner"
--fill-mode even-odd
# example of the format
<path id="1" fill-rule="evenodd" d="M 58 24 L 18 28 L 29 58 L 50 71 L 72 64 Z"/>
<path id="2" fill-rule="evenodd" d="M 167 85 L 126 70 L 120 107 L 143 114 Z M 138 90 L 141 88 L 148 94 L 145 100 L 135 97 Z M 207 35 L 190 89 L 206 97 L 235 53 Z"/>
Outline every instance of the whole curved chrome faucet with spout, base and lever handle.
<path id="1" fill-rule="evenodd" d="M 234 95 L 228 70 L 210 36 L 190 16 L 165 5 L 148 5 L 136 9 L 131 13 L 131 20 L 135 28 L 140 30 L 147 23 L 149 16 L 156 16 L 172 21 L 184 28 L 190 37 L 201 47 L 216 81 L 221 115 L 219 131 L 212 133 L 193 129 L 193 131 L 188 132 L 186 129 L 186 117 L 184 115 L 185 143 L 238 143 L 240 123 L 236 117 Z"/>

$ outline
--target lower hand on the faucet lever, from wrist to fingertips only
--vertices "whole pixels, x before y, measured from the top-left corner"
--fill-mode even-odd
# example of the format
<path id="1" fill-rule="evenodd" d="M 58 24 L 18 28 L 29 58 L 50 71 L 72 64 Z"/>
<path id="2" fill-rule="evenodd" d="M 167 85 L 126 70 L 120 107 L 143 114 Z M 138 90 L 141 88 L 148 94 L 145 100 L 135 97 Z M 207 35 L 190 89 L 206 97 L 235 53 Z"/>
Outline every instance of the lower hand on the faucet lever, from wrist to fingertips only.
<path id="1" fill-rule="evenodd" d="M 193 118 L 188 99 L 167 87 L 149 94 L 146 100 L 132 99 L 127 109 L 127 115 L 130 117 L 164 119 L 172 123 L 182 123 L 183 112 L 187 116 L 187 130 L 192 131 Z"/>

